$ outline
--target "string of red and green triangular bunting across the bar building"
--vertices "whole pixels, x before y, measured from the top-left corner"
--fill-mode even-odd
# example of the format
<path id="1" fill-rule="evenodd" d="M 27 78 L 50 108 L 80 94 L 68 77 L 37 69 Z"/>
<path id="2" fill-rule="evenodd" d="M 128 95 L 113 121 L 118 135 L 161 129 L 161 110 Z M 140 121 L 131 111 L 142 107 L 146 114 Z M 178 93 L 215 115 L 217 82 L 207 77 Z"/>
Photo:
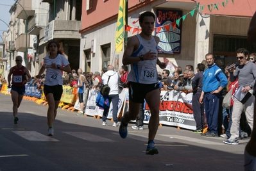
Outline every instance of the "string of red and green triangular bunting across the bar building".
<path id="1" fill-rule="evenodd" d="M 122 1 L 122 0 L 121 0 Z M 121 2 L 120 1 L 120 2 Z M 213 3 L 213 4 L 203 4 L 203 5 L 200 5 L 200 4 L 196 4 L 194 10 L 191 10 L 191 12 L 189 12 L 191 14 L 191 16 L 193 17 L 194 16 L 194 12 L 196 10 L 198 10 L 198 12 L 202 12 L 203 9 L 205 8 L 205 6 L 208 7 L 208 10 L 209 12 L 212 12 L 212 10 L 219 10 L 219 4 L 222 4 L 222 6 L 225 8 L 226 5 L 228 4 L 228 1 L 230 0 L 225 0 L 225 1 L 222 1 L 221 3 Z M 234 0 L 231 0 L 232 3 L 234 4 Z M 185 18 L 187 17 L 187 15 L 189 13 L 186 13 L 185 15 L 183 15 L 182 17 L 180 17 L 179 19 L 175 20 L 174 22 L 171 22 L 171 26 L 173 26 L 173 29 L 176 29 L 176 25 L 177 26 L 180 26 L 180 20 L 182 19 L 183 21 L 185 21 Z M 119 16 L 119 15 L 118 15 Z M 157 30 L 157 33 L 159 33 L 159 31 L 162 29 L 162 28 L 165 28 L 168 32 L 169 32 L 169 25 L 170 24 L 167 24 L 167 25 L 164 25 L 164 26 L 160 26 L 160 27 L 157 27 L 157 28 L 154 28 L 154 30 L 156 29 Z M 200 26 L 204 26 L 205 25 L 205 22 L 203 20 L 201 20 L 200 22 Z M 133 29 L 132 31 L 132 34 L 133 33 L 139 33 L 141 32 L 141 29 L 139 28 L 133 28 L 131 26 L 126 26 L 125 28 L 125 31 L 131 31 L 131 29 Z M 207 30 L 208 31 L 208 30 Z M 208 36 L 209 36 L 209 33 L 208 33 Z"/>

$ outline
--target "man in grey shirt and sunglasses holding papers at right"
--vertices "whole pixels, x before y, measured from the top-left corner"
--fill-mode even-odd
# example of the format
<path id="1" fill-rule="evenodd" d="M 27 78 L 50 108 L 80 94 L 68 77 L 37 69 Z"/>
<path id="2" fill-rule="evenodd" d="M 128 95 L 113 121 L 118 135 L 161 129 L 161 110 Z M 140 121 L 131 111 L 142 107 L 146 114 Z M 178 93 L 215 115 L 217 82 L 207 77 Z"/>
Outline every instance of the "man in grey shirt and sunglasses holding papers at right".
<path id="1" fill-rule="evenodd" d="M 256 65 L 248 61 L 249 52 L 244 49 L 237 50 L 237 60 L 239 65 L 235 68 L 228 70 L 230 72 L 230 81 L 234 82 L 238 78 L 238 85 L 243 86 L 244 93 L 250 92 L 253 94 L 253 87 L 255 86 L 256 78 Z M 255 97 L 252 95 L 244 104 L 238 99 L 234 98 L 234 106 L 232 113 L 232 125 L 230 128 L 230 138 L 224 143 L 230 145 L 239 144 L 239 124 L 241 113 L 245 111 L 246 120 L 250 128 L 253 128 L 253 110 L 254 110 Z"/>

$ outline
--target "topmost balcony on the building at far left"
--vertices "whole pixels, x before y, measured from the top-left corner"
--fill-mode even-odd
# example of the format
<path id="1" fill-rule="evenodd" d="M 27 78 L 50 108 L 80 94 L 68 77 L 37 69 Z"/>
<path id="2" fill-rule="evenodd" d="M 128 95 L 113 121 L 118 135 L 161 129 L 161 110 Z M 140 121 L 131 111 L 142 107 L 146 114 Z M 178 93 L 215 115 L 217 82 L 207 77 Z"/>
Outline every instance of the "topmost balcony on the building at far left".
<path id="1" fill-rule="evenodd" d="M 35 10 L 32 10 L 32 0 L 19 0 L 19 4 L 17 4 L 17 18 L 26 20 L 27 17 L 35 15 Z M 26 13 L 24 12 L 26 11 Z"/>

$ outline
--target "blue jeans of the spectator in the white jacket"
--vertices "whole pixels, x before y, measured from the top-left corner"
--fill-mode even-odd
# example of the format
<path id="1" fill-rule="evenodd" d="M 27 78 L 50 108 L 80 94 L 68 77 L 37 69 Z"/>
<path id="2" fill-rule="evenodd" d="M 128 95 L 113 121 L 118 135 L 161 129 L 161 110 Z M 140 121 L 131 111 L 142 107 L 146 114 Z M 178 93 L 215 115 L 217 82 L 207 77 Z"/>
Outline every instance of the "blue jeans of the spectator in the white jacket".
<path id="1" fill-rule="evenodd" d="M 113 117 L 114 122 L 117 123 L 118 122 L 117 112 L 118 112 L 119 95 L 118 94 L 110 94 L 110 95 L 108 95 L 108 100 L 109 100 L 109 104 L 112 102 L 112 106 L 113 106 L 112 117 Z M 109 108 L 110 107 L 105 108 L 103 111 L 103 116 L 102 116 L 103 122 L 106 122 L 106 120 L 107 120 Z"/>

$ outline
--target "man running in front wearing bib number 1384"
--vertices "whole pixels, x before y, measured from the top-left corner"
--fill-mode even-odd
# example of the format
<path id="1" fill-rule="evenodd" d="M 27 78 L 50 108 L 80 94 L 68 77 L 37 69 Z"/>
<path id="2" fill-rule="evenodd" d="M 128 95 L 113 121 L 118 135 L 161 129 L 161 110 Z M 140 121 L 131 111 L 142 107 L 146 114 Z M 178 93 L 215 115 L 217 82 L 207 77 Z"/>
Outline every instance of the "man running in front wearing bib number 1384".
<path id="1" fill-rule="evenodd" d="M 151 117 L 148 124 L 148 146 L 146 154 L 158 154 L 155 147 L 155 135 L 159 126 L 159 104 L 160 93 L 157 79 L 157 66 L 160 69 L 166 68 L 166 63 L 158 60 L 157 44 L 159 38 L 152 36 L 155 26 L 155 14 L 144 12 L 139 17 L 141 33 L 128 40 L 124 51 L 123 64 L 131 65 L 129 73 L 129 111 L 121 118 L 119 134 L 121 138 L 126 138 L 127 126 L 130 120 L 135 120 L 139 114 L 141 104 L 144 99 L 149 106 Z M 166 77 L 167 74 L 166 74 Z"/>

